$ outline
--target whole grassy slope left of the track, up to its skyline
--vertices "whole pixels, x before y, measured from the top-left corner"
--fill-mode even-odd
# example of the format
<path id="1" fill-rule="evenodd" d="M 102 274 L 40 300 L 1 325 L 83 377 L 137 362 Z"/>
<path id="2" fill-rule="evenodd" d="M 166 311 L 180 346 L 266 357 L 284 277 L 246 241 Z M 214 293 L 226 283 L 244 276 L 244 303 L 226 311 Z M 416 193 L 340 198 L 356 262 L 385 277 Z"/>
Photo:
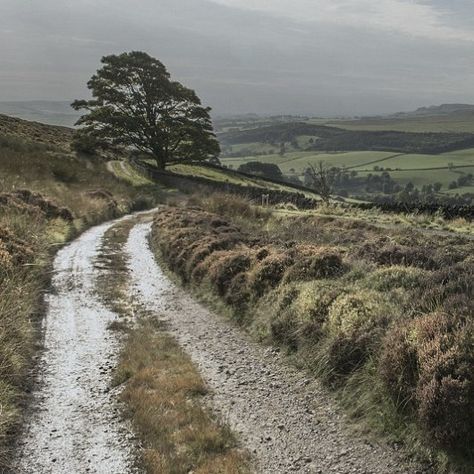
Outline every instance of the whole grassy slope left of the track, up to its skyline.
<path id="1" fill-rule="evenodd" d="M 56 251 L 91 225 L 163 194 L 115 178 L 70 149 L 68 129 L 0 116 L 0 470 L 31 385 Z"/>

